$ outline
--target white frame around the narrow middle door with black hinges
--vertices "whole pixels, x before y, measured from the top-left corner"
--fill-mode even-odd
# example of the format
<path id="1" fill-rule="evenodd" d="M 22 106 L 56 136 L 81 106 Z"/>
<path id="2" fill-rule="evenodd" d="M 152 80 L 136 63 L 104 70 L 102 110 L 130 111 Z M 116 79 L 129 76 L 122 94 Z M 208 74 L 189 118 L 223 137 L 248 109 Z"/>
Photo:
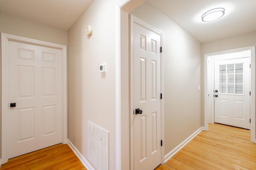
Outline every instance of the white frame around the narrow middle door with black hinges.
<path id="1" fill-rule="evenodd" d="M 163 48 L 163 33 L 161 31 L 159 31 L 158 29 L 156 29 L 155 27 L 152 27 L 151 25 L 149 25 L 148 23 L 140 20 L 139 18 L 130 15 L 130 169 L 133 170 L 134 169 L 134 72 L 133 72 L 133 63 L 134 63 L 134 49 L 133 49 L 133 27 L 134 27 L 134 23 L 137 23 L 138 25 L 160 35 L 161 40 L 160 40 L 160 47 Z M 160 92 L 163 94 L 163 52 L 160 53 L 160 57 L 161 57 L 161 70 L 160 70 L 160 74 L 161 74 L 161 82 L 160 82 Z M 164 141 L 164 98 L 162 98 L 161 100 L 161 140 Z M 161 147 L 161 164 L 164 163 L 164 145 Z"/>

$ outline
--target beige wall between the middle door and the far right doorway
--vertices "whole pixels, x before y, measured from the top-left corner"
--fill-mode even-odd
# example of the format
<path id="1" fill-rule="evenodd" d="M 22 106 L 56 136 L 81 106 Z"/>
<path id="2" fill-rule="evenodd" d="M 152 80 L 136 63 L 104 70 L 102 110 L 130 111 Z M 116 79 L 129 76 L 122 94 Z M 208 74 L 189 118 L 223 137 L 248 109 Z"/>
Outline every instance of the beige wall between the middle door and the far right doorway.
<path id="1" fill-rule="evenodd" d="M 130 12 L 164 33 L 164 154 L 202 126 L 201 43 L 148 2 Z"/>

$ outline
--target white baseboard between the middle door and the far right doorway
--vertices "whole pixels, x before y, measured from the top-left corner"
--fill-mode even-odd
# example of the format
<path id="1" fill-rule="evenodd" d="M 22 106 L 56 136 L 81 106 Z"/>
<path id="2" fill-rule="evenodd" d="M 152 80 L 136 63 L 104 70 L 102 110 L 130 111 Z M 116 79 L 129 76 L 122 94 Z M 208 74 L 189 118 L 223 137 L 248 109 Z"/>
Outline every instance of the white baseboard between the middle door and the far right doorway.
<path id="1" fill-rule="evenodd" d="M 171 150 L 168 154 L 166 154 L 164 156 L 164 163 L 166 163 L 170 158 L 172 158 L 172 156 L 174 156 L 180 149 L 182 149 L 185 145 L 187 145 L 187 143 L 189 141 L 191 141 L 194 137 L 196 137 L 196 135 L 198 135 L 198 133 L 200 133 L 202 130 L 204 129 L 204 127 L 200 127 L 197 131 L 195 131 L 192 135 L 190 135 L 190 137 L 188 137 L 187 139 L 185 139 L 182 143 L 180 143 L 180 145 L 178 145 L 176 148 L 174 148 L 173 150 Z"/>

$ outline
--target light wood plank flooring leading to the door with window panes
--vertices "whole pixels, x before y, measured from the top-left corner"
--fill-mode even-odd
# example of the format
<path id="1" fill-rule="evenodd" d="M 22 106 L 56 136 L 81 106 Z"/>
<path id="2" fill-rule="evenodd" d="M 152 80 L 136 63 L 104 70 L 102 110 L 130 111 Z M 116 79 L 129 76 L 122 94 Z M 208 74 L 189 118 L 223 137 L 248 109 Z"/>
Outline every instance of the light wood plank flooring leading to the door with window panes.
<path id="1" fill-rule="evenodd" d="M 256 144 L 250 131 L 209 123 L 168 162 L 155 170 L 256 170 Z"/>

